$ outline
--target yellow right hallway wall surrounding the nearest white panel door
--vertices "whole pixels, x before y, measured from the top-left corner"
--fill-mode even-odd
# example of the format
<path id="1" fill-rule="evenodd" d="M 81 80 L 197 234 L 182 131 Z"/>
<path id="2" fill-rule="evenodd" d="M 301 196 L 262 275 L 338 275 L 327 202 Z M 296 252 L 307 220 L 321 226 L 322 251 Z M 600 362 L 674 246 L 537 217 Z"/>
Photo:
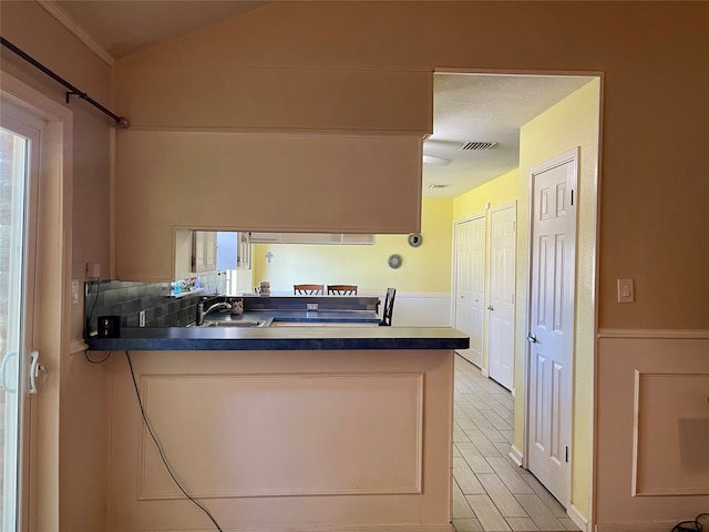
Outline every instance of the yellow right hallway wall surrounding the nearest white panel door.
<path id="1" fill-rule="evenodd" d="M 475 73 L 465 75 L 474 76 Z M 482 75 L 497 75 L 490 72 Z M 504 78 L 505 73 L 500 73 Z M 549 76 L 549 78 L 553 78 Z M 459 80 L 459 85 L 463 81 Z M 574 344 L 572 358 L 573 375 L 569 376 L 569 395 L 573 397 L 569 412 L 573 420 L 573 442 L 568 446 L 566 462 L 566 444 L 561 446 L 564 463 L 573 464 L 574 477 L 571 479 L 571 498 L 564 500 L 568 515 L 582 529 L 586 529 L 593 514 L 593 419 L 594 389 L 592 386 L 595 367 L 595 319 L 596 268 L 597 268 L 597 205 L 598 205 L 598 161 L 600 156 L 600 101 L 602 79 L 586 78 L 586 84 L 577 89 L 564 100 L 541 114 L 528 119 L 520 130 L 518 165 L 515 172 L 497 175 L 493 181 L 477 185 L 476 188 L 454 200 L 454 216 L 464 217 L 469 212 L 476 212 L 481 205 L 505 205 L 517 200 L 517 238 L 515 268 L 516 309 L 515 309 L 515 369 L 514 396 L 514 441 L 510 446 L 510 457 L 523 468 L 528 468 L 528 446 L 533 444 L 527 422 L 528 381 L 531 370 L 526 336 L 528 330 L 528 305 L 531 297 L 528 279 L 531 266 L 527 264 L 530 253 L 530 204 L 532 194 L 530 171 L 544 161 L 565 153 L 572 146 L 578 150 L 578 186 L 574 203 L 577 208 L 576 254 L 566 265 L 575 270 L 576 278 L 569 287 L 573 290 L 576 315 L 573 318 Z M 460 94 L 456 94 L 460 96 Z M 480 106 L 475 101 L 473 106 Z M 477 108 L 475 108 L 477 109 Z M 494 108 L 496 109 L 496 108 Z M 487 151 L 491 153 L 492 150 Z M 482 156 L 482 155 L 481 155 Z M 571 198 L 569 198 L 571 200 Z M 578 205 L 576 205 L 578 203 Z M 465 207 L 469 206 L 469 209 Z M 487 317 L 490 317 L 487 315 Z M 558 444 L 555 449 L 558 461 Z M 561 495 L 563 499 L 563 495 Z"/>

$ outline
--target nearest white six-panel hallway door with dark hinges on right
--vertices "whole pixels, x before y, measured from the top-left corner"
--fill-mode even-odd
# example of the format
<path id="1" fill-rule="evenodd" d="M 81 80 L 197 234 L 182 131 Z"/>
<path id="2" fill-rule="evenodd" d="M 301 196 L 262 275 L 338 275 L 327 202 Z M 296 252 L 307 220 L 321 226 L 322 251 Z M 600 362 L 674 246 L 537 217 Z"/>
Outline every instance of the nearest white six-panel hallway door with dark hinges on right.
<path id="1" fill-rule="evenodd" d="M 576 152 L 532 173 L 527 467 L 569 501 Z"/>

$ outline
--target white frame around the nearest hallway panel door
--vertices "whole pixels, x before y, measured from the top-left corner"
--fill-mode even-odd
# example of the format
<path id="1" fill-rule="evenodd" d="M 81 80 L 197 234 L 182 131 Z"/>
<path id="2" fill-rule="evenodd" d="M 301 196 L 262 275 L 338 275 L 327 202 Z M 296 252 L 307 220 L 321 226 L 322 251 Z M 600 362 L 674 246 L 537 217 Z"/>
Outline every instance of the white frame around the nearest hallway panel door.
<path id="1" fill-rule="evenodd" d="M 525 337 L 527 336 L 528 331 L 532 330 L 532 268 L 533 268 L 533 262 L 532 262 L 532 254 L 533 254 L 533 242 L 532 242 L 532 237 L 533 237 L 533 217 L 534 217 L 534 180 L 535 176 L 548 171 L 551 168 L 554 168 L 555 166 L 559 166 L 562 164 L 566 164 L 568 162 L 573 162 L 575 164 L 576 171 L 574 172 L 574 176 L 573 176 L 573 182 L 571 183 L 572 188 L 574 191 L 578 191 L 578 164 L 580 161 L 580 147 L 574 147 L 572 150 L 568 150 L 559 155 L 557 155 L 556 157 L 549 158 L 547 161 L 545 161 L 542 164 L 538 164 L 536 166 L 533 166 L 532 168 L 530 168 L 530 181 L 528 181 L 528 205 L 527 205 L 527 268 L 526 268 L 526 319 L 525 319 L 525 325 L 526 325 L 526 330 L 525 330 Z M 577 202 L 577 200 L 575 200 Z M 577 242 L 576 242 L 576 229 L 578 227 L 578 208 L 574 209 L 574 267 L 572 268 L 572 284 L 574 286 L 574 288 L 571 290 L 572 296 L 572 308 L 573 308 L 573 313 L 574 316 L 576 315 L 576 266 L 578 264 L 578 257 L 577 257 Z M 569 371 L 568 371 L 568 378 L 569 378 L 569 382 L 568 382 L 568 390 L 569 390 L 569 398 L 571 398 L 571 405 L 569 408 L 572 409 L 571 412 L 571 427 L 569 427 L 569 431 L 571 431 L 571 437 L 572 437 L 572 441 L 573 441 L 573 431 L 574 431 L 574 412 L 573 412 L 573 402 L 574 402 L 574 366 L 575 366 L 575 352 L 574 352 L 574 346 L 575 346 L 575 329 L 576 329 L 576 323 L 575 320 L 572 320 L 571 324 L 571 328 L 568 331 L 568 338 L 567 338 L 567 347 L 571 346 L 571 352 L 572 352 L 572 357 L 569 360 Z M 522 456 L 522 467 L 527 469 L 528 468 L 528 456 L 530 456 L 530 364 L 531 364 L 531 355 L 532 355 L 532 350 L 530 347 L 530 342 L 525 341 L 525 347 L 524 347 L 524 424 L 523 424 L 523 456 Z M 568 478 L 566 479 L 569 485 L 569 490 L 568 490 L 568 498 L 571 498 L 572 495 L 572 470 L 573 468 L 571 467 L 571 464 L 573 463 L 573 448 L 569 451 L 569 468 L 568 468 Z M 566 501 L 561 501 L 562 504 L 565 505 L 565 508 L 568 510 L 571 508 L 571 500 L 566 500 Z"/>

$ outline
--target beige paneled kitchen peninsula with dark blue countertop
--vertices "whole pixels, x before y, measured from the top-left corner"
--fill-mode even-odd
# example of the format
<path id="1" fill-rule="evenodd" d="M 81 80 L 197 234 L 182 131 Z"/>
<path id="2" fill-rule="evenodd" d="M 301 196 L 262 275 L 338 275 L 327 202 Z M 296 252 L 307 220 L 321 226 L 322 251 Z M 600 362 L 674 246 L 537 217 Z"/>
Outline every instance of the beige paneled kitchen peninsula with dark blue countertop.
<path id="1" fill-rule="evenodd" d="M 90 338 L 126 350 L 185 490 L 229 531 L 450 532 L 451 328 L 155 327 Z M 107 530 L 216 530 L 178 491 L 111 382 Z"/>

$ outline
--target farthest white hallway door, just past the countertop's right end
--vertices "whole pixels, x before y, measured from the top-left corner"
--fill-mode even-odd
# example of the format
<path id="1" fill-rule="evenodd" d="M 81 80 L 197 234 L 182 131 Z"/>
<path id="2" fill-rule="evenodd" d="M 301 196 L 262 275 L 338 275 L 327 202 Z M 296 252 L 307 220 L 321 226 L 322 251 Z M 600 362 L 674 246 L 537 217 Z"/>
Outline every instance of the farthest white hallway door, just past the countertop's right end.
<path id="1" fill-rule="evenodd" d="M 455 225 L 455 328 L 470 335 L 470 348 L 458 352 L 483 367 L 485 305 L 485 217 Z"/>

